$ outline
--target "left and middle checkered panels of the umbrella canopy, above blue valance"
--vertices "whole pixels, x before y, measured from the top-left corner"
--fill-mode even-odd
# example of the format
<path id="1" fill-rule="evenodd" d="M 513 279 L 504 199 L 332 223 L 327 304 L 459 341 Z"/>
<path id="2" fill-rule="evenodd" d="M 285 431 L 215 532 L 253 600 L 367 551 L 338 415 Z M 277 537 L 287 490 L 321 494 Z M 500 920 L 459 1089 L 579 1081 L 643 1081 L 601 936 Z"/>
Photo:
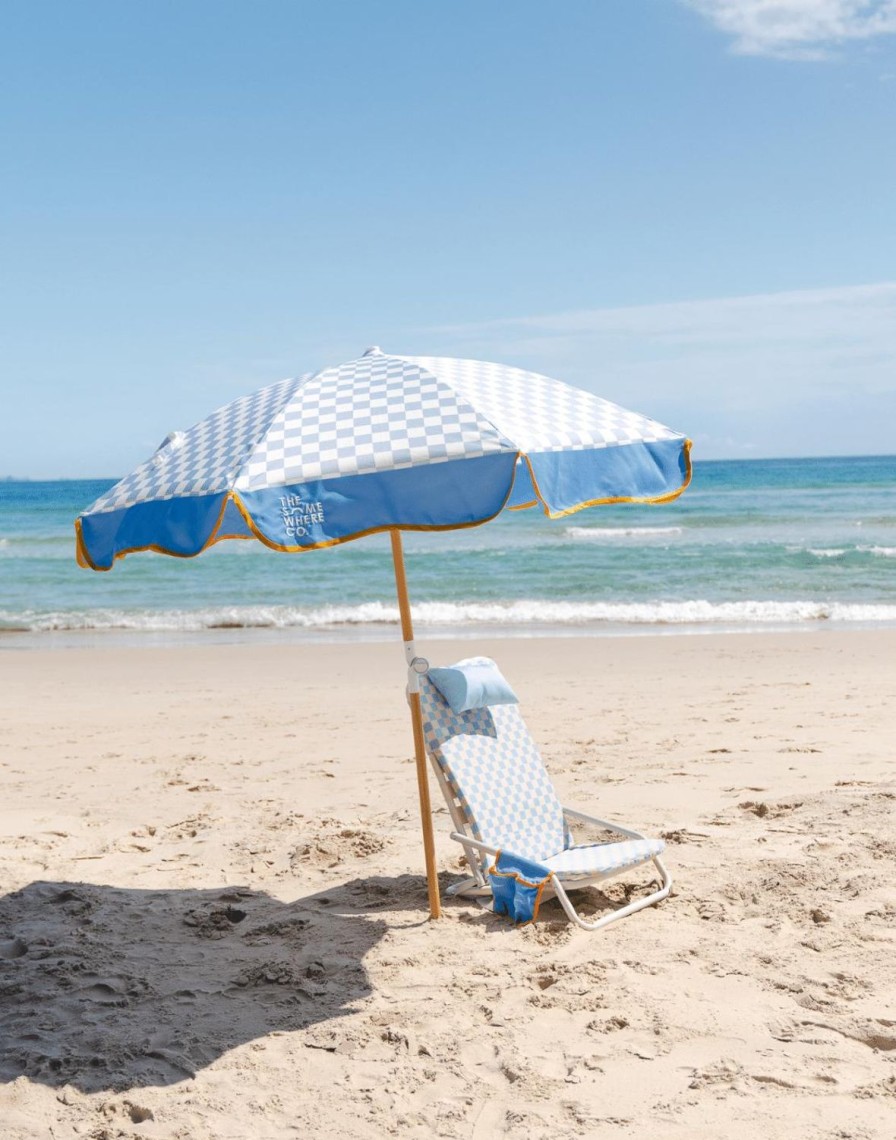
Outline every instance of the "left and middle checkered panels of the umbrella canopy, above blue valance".
<path id="1" fill-rule="evenodd" d="M 370 352 L 219 408 L 177 433 L 88 513 L 516 450 L 437 374 Z"/>

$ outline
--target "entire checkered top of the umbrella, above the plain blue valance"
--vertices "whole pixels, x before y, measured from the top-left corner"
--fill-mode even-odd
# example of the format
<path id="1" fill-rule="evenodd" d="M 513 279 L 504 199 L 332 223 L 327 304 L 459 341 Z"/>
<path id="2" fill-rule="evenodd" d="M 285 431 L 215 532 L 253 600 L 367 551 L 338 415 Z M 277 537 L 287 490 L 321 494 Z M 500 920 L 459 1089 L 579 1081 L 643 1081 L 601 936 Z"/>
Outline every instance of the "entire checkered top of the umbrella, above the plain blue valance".
<path id="1" fill-rule="evenodd" d="M 653 420 L 538 373 L 372 349 L 219 408 L 176 433 L 85 513 L 498 451 L 576 451 L 675 439 L 678 433 Z"/>

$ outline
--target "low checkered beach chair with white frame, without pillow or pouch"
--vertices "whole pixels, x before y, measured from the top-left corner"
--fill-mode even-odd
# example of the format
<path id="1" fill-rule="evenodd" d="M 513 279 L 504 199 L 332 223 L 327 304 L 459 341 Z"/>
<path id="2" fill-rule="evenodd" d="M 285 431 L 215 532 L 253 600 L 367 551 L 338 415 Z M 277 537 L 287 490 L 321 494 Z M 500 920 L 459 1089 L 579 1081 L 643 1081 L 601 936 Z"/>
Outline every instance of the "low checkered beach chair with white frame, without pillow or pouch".
<path id="1" fill-rule="evenodd" d="M 463 663 L 495 667 L 488 658 Z M 472 871 L 472 878 L 449 888 L 449 894 L 488 897 L 498 883 L 490 878 L 498 856 L 511 853 L 549 872 L 545 896 L 556 895 L 570 920 L 584 930 L 597 930 L 666 898 L 671 878 L 660 858 L 665 842 L 563 807 L 518 705 L 454 712 L 429 676 L 420 678 L 420 689 L 426 751 L 455 826 L 451 839 L 464 848 Z M 570 830 L 576 823 L 624 838 L 577 844 Z M 573 906 L 569 888 L 602 883 L 643 864 L 651 864 L 659 882 L 652 894 L 594 921 Z"/>

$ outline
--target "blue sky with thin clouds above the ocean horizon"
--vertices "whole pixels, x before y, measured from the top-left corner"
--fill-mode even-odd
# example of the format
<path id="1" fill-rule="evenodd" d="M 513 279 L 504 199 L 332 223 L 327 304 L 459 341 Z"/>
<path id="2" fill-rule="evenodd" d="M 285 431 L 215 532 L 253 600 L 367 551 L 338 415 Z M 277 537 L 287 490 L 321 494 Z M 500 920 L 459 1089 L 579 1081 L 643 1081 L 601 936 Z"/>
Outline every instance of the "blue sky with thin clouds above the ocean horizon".
<path id="1" fill-rule="evenodd" d="M 891 454 L 895 213 L 896 0 L 8 5 L 0 477 L 372 344 Z"/>

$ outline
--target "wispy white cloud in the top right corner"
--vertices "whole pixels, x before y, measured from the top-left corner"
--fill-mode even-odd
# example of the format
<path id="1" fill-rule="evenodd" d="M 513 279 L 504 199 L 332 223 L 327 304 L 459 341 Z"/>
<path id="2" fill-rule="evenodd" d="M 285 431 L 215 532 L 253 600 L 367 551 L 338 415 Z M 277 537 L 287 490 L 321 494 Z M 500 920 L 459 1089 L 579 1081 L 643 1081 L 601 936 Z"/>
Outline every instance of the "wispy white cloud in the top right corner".
<path id="1" fill-rule="evenodd" d="M 832 48 L 896 33 L 896 0 L 684 0 L 733 38 L 739 55 L 824 59 Z"/>

